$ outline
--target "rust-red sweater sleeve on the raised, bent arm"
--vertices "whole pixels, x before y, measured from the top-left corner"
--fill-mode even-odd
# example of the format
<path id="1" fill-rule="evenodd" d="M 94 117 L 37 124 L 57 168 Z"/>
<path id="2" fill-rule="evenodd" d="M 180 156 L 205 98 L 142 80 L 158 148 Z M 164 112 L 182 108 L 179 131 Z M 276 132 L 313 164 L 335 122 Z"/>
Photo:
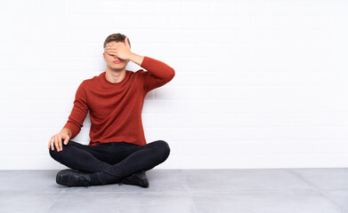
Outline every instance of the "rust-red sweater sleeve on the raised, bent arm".
<path id="1" fill-rule="evenodd" d="M 148 72 L 144 76 L 144 90 L 151 91 L 170 82 L 175 75 L 174 68 L 157 59 L 145 56 L 141 67 Z"/>

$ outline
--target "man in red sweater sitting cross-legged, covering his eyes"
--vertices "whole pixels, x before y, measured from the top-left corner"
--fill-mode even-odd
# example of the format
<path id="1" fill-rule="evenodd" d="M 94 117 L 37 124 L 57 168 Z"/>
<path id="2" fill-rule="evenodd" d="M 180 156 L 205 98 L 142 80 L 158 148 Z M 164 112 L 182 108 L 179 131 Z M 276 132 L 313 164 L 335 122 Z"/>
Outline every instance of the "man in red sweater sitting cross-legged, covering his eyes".
<path id="1" fill-rule="evenodd" d="M 53 159 L 71 168 L 58 172 L 56 182 L 148 187 L 145 171 L 165 162 L 170 148 L 164 140 L 146 142 L 143 100 L 149 91 L 170 82 L 175 72 L 157 59 L 132 52 L 122 34 L 108 36 L 103 46 L 106 71 L 79 85 L 68 122 L 48 143 Z M 147 71 L 126 70 L 130 60 Z M 70 139 L 81 130 L 88 110 L 91 140 L 87 146 Z"/>

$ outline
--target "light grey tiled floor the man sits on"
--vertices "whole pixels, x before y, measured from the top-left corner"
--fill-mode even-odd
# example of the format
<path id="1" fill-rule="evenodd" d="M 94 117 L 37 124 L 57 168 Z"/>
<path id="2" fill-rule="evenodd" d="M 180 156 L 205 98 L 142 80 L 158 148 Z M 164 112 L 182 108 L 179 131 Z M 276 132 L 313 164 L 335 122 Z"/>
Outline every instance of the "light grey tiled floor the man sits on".
<path id="1" fill-rule="evenodd" d="M 66 187 L 58 171 L 0 170 L 0 212 L 348 212 L 348 169 L 154 169 L 149 188 Z"/>

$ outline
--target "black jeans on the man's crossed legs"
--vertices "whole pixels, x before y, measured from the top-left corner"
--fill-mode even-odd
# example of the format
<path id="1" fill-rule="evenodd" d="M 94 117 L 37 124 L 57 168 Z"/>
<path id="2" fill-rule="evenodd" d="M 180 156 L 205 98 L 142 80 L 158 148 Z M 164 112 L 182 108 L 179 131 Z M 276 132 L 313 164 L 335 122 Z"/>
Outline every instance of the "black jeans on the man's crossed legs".
<path id="1" fill-rule="evenodd" d="M 144 146 L 125 142 L 111 142 L 87 146 L 61 139 L 62 150 L 50 148 L 50 155 L 67 167 L 90 173 L 98 173 L 102 185 L 117 183 L 141 170 L 150 170 L 165 162 L 170 154 L 166 141 L 157 140 Z"/>

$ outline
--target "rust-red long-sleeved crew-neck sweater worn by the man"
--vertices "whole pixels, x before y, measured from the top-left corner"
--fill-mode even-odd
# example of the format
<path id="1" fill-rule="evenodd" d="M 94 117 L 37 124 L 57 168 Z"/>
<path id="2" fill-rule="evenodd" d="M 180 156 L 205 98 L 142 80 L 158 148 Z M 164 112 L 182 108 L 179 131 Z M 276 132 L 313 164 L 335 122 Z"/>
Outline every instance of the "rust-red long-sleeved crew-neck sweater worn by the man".
<path id="1" fill-rule="evenodd" d="M 120 83 L 110 83 L 103 72 L 78 86 L 69 120 L 63 127 L 71 130 L 70 139 L 80 132 L 89 110 L 89 146 L 109 142 L 146 144 L 142 128 L 144 98 L 149 91 L 170 82 L 175 72 L 164 62 L 146 56 L 141 67 L 148 72 L 126 70 Z"/>

